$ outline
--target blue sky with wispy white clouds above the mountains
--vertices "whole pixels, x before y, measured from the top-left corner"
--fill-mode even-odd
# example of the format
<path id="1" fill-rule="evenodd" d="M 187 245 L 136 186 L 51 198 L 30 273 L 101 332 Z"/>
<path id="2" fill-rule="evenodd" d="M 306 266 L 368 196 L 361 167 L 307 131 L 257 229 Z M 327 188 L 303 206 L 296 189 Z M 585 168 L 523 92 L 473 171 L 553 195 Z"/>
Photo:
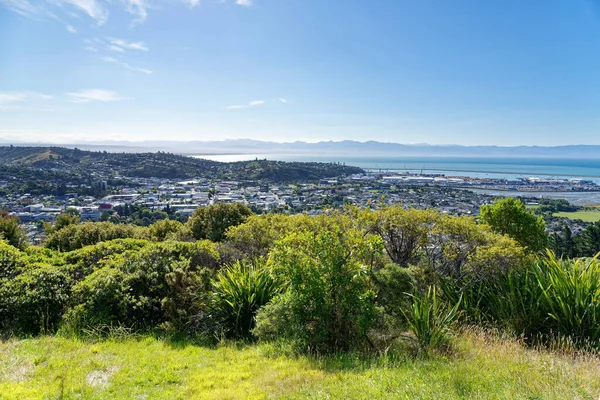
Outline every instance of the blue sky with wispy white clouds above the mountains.
<path id="1" fill-rule="evenodd" d="M 600 144 L 592 0 L 0 0 L 0 138 Z"/>

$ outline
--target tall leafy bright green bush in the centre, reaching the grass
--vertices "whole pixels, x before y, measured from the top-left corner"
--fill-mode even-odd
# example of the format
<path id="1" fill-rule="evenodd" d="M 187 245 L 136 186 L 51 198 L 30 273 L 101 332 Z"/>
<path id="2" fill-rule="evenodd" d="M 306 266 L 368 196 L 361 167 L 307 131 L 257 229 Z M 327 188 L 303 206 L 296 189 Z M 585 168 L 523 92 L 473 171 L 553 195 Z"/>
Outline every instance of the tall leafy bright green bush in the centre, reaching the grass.
<path id="1" fill-rule="evenodd" d="M 317 352 L 364 344 L 377 317 L 371 268 L 381 251 L 378 237 L 340 226 L 288 235 L 269 259 L 287 289 L 258 312 L 255 334 L 278 332 Z"/>

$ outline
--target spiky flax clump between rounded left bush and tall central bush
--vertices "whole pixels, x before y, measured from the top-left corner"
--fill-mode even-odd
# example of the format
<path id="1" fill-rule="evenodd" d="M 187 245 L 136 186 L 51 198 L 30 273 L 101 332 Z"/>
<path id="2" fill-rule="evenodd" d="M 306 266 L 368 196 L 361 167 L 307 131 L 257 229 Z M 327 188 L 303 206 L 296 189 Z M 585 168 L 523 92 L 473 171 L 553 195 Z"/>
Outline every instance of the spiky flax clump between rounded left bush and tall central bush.
<path id="1" fill-rule="evenodd" d="M 273 276 L 264 260 L 238 261 L 217 272 L 212 310 L 224 333 L 248 337 L 257 311 L 282 289 L 282 282 Z"/>

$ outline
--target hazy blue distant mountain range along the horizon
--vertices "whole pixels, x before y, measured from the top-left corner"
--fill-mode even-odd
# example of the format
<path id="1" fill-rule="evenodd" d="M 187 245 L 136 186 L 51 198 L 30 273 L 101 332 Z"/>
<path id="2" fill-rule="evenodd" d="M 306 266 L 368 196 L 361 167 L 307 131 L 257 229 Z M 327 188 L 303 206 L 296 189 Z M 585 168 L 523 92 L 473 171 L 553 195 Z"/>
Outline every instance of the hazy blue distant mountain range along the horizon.
<path id="1" fill-rule="evenodd" d="M 52 146 L 52 143 L 15 143 L 0 139 L 3 145 Z M 56 146 L 82 150 L 106 150 L 108 152 L 155 152 L 164 151 L 186 155 L 209 154 L 332 154 L 360 156 L 397 156 L 397 157 L 539 157 L 539 158 L 600 158 L 599 145 L 570 146 L 462 146 L 400 144 L 386 142 L 358 142 L 352 140 L 327 141 L 317 143 L 288 142 L 277 143 L 251 139 L 223 141 L 98 141 Z"/>

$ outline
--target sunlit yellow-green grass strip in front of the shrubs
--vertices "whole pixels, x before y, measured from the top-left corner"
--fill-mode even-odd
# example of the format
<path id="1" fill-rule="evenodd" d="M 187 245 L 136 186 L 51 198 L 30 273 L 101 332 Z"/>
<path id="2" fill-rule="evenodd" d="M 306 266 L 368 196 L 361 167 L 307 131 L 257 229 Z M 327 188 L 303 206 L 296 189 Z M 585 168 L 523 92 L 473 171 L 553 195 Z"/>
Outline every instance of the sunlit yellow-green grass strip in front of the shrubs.
<path id="1" fill-rule="evenodd" d="M 266 345 L 217 348 L 155 338 L 61 337 L 0 344 L 1 399 L 578 398 L 600 394 L 600 366 L 467 332 L 426 359 L 284 356 Z"/>

